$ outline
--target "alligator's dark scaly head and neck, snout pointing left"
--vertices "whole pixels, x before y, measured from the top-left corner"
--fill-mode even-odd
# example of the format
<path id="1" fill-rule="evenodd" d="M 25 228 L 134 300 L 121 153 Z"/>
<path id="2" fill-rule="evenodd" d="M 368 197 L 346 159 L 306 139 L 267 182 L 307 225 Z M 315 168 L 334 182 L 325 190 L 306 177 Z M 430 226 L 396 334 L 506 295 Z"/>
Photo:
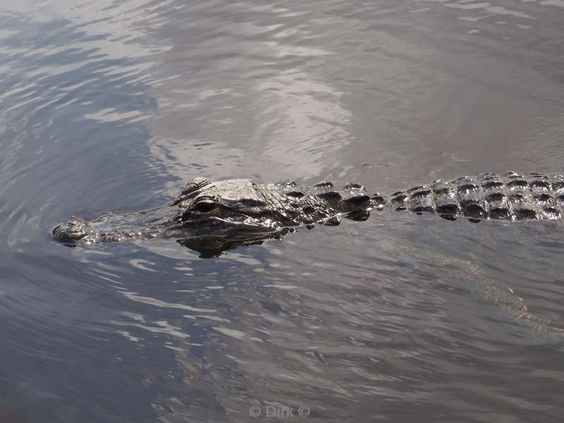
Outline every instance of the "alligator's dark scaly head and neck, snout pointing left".
<path id="1" fill-rule="evenodd" d="M 202 252 L 203 257 L 210 257 L 238 245 L 281 237 L 292 226 L 336 225 L 342 216 L 367 219 L 370 199 L 364 188 L 348 185 L 343 199 L 332 187 L 331 183 L 297 188 L 295 183 L 194 178 L 168 206 L 106 214 L 94 221 L 73 219 L 56 226 L 52 235 L 66 245 L 176 238 Z"/>

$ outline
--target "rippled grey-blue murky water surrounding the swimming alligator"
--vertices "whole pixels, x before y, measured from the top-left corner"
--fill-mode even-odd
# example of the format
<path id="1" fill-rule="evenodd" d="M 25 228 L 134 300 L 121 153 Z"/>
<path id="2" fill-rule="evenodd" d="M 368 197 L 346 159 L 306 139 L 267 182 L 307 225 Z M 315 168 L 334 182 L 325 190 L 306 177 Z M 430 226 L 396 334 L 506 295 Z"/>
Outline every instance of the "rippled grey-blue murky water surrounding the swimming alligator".
<path id="1" fill-rule="evenodd" d="M 561 0 L 4 2 L 0 417 L 559 422 L 559 333 L 515 310 L 564 321 L 561 223 L 373 215 L 207 260 L 49 230 L 193 176 L 560 173 L 563 22 Z"/>

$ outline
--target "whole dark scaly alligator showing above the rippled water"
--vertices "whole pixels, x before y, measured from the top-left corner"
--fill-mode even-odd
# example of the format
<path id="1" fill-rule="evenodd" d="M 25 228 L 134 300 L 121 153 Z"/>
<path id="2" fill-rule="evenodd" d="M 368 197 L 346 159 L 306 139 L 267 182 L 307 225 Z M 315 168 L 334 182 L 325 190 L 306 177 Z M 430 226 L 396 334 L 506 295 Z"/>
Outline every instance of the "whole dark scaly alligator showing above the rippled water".
<path id="1" fill-rule="evenodd" d="M 435 180 L 391 195 L 369 195 L 355 183 L 336 190 L 329 182 L 300 188 L 292 181 L 194 178 L 164 207 L 105 214 L 93 221 L 72 219 L 51 234 L 71 246 L 176 238 L 200 257 L 214 257 L 239 245 L 281 238 L 296 226 L 335 226 L 343 218 L 364 221 L 371 211 L 410 210 L 447 220 L 463 216 L 472 222 L 522 221 L 560 219 L 563 203 L 564 176 L 513 171 Z"/>

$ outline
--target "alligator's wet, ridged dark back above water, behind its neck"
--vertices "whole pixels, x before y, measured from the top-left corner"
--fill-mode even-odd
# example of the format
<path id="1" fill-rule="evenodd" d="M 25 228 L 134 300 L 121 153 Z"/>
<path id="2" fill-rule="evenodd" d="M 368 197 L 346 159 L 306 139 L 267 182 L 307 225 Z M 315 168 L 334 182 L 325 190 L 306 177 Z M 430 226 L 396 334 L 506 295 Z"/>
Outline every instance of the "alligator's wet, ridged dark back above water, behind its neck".
<path id="1" fill-rule="evenodd" d="M 437 180 L 388 197 L 376 196 L 374 200 L 381 207 L 388 204 L 396 210 L 436 213 L 445 219 L 457 216 L 471 220 L 560 219 L 564 176 L 482 173 L 455 180 Z"/>

